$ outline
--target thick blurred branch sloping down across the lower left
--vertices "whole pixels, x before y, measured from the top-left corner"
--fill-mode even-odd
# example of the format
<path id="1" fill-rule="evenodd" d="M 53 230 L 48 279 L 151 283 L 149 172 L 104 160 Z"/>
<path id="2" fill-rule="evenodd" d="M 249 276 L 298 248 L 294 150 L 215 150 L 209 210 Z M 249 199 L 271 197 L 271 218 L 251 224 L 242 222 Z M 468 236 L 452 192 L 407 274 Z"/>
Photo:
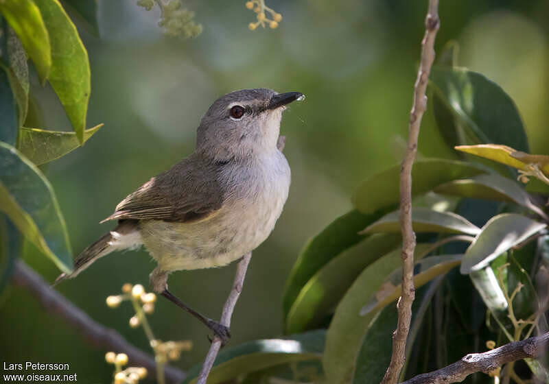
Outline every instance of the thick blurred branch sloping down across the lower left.
<path id="1" fill-rule="evenodd" d="M 82 309 L 76 307 L 58 291 L 51 289 L 43 278 L 21 260 L 18 260 L 15 265 L 13 282 L 30 291 L 47 311 L 62 317 L 94 346 L 124 352 L 133 364 L 143 366 L 149 372 L 156 372 L 154 357 L 129 344 L 117 331 L 95 322 Z M 171 383 L 180 383 L 185 379 L 185 373 L 177 368 L 165 367 L 164 370 L 166 378 Z"/>

